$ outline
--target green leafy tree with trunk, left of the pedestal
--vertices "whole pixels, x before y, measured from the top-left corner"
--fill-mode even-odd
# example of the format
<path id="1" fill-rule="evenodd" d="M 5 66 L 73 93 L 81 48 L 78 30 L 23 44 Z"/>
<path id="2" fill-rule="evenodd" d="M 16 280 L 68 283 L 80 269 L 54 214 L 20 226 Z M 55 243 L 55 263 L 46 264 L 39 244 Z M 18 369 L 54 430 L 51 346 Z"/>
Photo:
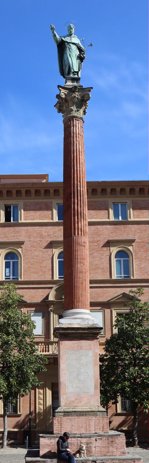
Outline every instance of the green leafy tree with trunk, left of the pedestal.
<path id="1" fill-rule="evenodd" d="M 7 438 L 7 401 L 16 403 L 18 395 L 27 395 L 38 386 L 37 373 L 45 371 L 47 360 L 37 354 L 30 316 L 18 310 L 23 295 L 14 283 L 0 287 L 0 400 L 3 401 L 4 432 L 2 447 Z"/>

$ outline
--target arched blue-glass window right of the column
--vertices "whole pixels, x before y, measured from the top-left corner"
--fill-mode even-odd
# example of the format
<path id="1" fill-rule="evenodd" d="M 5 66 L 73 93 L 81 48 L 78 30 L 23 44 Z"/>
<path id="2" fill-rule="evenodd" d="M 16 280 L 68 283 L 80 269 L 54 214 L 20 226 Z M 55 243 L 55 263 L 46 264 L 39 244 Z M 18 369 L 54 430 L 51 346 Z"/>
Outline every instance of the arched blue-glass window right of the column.
<path id="1" fill-rule="evenodd" d="M 115 255 L 116 278 L 130 278 L 129 256 L 124 251 Z"/>

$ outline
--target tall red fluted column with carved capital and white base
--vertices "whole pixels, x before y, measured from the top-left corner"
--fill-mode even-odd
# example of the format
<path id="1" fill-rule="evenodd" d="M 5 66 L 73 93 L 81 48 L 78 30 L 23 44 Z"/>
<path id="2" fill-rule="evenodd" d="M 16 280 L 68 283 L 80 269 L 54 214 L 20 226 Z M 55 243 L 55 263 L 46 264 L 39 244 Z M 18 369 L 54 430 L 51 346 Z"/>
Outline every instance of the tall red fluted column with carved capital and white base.
<path id="1" fill-rule="evenodd" d="M 58 86 L 55 107 L 63 114 L 63 251 L 64 311 L 93 323 L 89 304 L 87 184 L 83 115 L 92 88 Z M 64 322 L 64 319 L 61 320 Z"/>

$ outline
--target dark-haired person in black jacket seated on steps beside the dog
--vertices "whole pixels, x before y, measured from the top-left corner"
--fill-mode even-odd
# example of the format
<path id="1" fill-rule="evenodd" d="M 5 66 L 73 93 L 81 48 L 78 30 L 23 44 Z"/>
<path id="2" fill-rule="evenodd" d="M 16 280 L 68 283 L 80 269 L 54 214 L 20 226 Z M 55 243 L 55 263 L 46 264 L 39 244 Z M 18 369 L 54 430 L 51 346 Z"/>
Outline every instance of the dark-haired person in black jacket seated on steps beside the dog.
<path id="1" fill-rule="evenodd" d="M 68 446 L 69 432 L 64 432 L 57 440 L 57 457 L 68 463 L 74 463 L 74 455 L 69 450 Z M 75 462 L 76 463 L 76 462 Z"/>

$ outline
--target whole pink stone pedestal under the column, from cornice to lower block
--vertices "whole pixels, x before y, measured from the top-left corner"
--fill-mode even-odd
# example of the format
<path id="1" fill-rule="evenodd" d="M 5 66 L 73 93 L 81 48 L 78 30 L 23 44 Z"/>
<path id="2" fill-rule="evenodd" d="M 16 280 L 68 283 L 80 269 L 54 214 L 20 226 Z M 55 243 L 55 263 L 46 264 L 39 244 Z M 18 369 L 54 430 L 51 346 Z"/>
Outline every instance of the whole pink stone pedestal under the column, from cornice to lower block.
<path id="1" fill-rule="evenodd" d="M 59 407 L 53 432 L 108 432 L 106 410 L 100 406 L 98 324 L 59 324 Z"/>

